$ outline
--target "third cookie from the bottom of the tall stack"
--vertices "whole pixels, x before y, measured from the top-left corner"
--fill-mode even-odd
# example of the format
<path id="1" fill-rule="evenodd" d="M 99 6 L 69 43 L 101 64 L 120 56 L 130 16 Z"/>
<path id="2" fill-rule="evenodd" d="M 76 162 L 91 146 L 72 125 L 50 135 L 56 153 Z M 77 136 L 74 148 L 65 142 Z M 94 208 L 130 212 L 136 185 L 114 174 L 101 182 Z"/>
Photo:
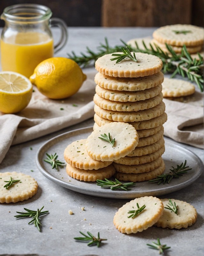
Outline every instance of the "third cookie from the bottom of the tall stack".
<path id="1" fill-rule="evenodd" d="M 148 154 L 148 155 L 142 155 L 142 156 L 124 156 L 120 159 L 114 160 L 115 163 L 118 164 L 126 164 L 126 165 L 132 165 L 132 164 L 145 164 L 149 163 L 151 161 L 154 161 L 155 159 L 162 156 L 162 154 L 165 151 L 164 145 L 155 151 L 154 153 Z"/>

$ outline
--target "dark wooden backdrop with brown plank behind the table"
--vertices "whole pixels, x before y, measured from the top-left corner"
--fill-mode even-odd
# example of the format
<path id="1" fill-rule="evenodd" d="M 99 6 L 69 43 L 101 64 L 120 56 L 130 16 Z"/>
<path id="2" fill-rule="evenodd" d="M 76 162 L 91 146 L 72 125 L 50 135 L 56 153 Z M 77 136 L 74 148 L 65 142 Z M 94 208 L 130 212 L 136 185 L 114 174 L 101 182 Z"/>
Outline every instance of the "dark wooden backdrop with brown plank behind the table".
<path id="1" fill-rule="evenodd" d="M 161 27 L 204 25 L 204 0 L 0 0 L 0 13 L 12 4 L 49 6 L 68 27 Z M 0 21 L 4 26 L 4 21 Z"/>

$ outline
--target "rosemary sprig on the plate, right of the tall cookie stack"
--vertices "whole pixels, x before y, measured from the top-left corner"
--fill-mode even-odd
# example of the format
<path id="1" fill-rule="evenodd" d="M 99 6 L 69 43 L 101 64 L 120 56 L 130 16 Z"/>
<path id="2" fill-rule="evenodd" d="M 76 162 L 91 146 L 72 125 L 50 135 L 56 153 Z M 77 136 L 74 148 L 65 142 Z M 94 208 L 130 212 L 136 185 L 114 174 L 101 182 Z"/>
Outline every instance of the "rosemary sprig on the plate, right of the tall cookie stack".
<path id="1" fill-rule="evenodd" d="M 158 175 L 156 177 L 156 179 L 153 180 L 149 180 L 148 182 L 158 182 L 158 185 L 163 181 L 163 184 L 170 183 L 170 181 L 173 178 L 179 178 L 180 176 L 182 176 L 183 174 L 185 174 L 187 171 L 192 170 L 192 168 L 189 168 L 189 166 L 186 166 L 186 160 L 183 163 L 181 163 L 180 165 L 177 164 L 177 167 L 173 167 L 171 166 L 173 169 L 170 169 L 169 173 L 163 173 L 161 175 Z"/>

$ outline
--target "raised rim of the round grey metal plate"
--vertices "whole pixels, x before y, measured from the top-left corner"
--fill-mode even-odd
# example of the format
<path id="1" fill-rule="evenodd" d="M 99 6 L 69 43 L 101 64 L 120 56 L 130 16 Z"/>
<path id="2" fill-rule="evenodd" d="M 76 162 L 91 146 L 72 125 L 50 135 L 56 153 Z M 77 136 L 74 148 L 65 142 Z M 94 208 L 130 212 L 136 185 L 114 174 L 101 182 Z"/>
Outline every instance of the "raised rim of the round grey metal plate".
<path id="1" fill-rule="evenodd" d="M 186 180 L 184 182 L 182 182 L 181 184 L 176 184 L 176 185 L 173 185 L 173 186 L 170 186 L 170 187 L 164 187 L 164 188 L 157 188 L 157 189 L 151 189 L 151 190 L 143 190 L 142 192 L 141 191 L 133 191 L 133 190 L 130 190 L 128 191 L 127 193 L 124 194 L 124 191 L 118 191 L 118 190 L 114 190 L 114 191 L 111 191 L 111 192 L 115 192 L 115 193 L 110 193 L 110 190 L 108 189 L 103 189 L 100 193 L 100 195 L 98 194 L 98 190 L 96 189 L 92 189 L 90 190 L 90 188 L 84 188 L 84 187 L 79 187 L 75 184 L 71 184 L 71 183 L 68 183 L 64 180 L 60 180 L 58 179 L 57 177 L 51 175 L 49 172 L 47 172 L 47 170 L 45 170 L 42 165 L 41 165 L 41 161 L 40 161 L 40 155 L 42 155 L 42 151 L 43 149 L 49 145 L 51 142 L 54 142 L 55 140 L 58 140 L 59 138 L 63 138 L 64 136 L 67 136 L 68 134 L 70 133 L 77 133 L 77 132 L 80 132 L 80 131 L 86 131 L 87 130 L 91 130 L 93 131 L 93 126 L 87 126 L 87 127 L 82 127 L 82 128 L 78 128 L 78 129 L 74 129 L 74 130 L 71 130 L 71 131 L 68 131 L 68 132 L 64 132 L 62 134 L 59 134 L 57 136 L 54 136 L 53 138 L 47 140 L 46 142 L 44 142 L 42 144 L 42 146 L 38 149 L 37 153 L 36 153 L 36 157 L 35 157 L 35 162 L 36 162 L 36 165 L 39 169 L 39 171 L 46 177 L 48 178 L 49 180 L 57 183 L 58 185 L 64 187 L 64 188 L 67 188 L 67 189 L 70 189 L 72 191 L 75 191 L 75 192 L 78 192 L 78 193 L 82 193 L 82 194 L 85 194 L 85 195 L 89 195 L 89 196 L 97 196 L 97 197 L 103 197 L 103 198 L 115 198 L 115 199 L 130 199 L 130 198 L 135 198 L 135 197 L 139 197 L 141 196 L 140 194 L 141 193 L 145 193 L 145 194 L 148 194 L 148 195 L 151 195 L 153 192 L 157 191 L 157 195 L 158 196 L 161 196 L 161 195 L 165 195 L 165 194 L 168 194 L 168 193 L 171 193 L 171 192 L 175 192 L 177 190 L 180 190 L 182 188 L 185 188 L 189 185 L 191 185 L 195 180 L 197 180 L 200 175 L 202 174 L 202 169 L 203 169 L 203 162 L 202 160 L 200 159 L 199 156 L 197 156 L 194 152 L 192 152 L 191 150 L 187 149 L 187 148 L 184 148 L 182 147 L 181 145 L 178 145 L 176 144 L 175 142 L 171 142 L 171 141 L 165 141 L 165 143 L 167 144 L 173 144 L 173 145 L 176 145 L 176 148 L 180 148 L 182 150 L 185 150 L 186 152 L 190 152 L 192 154 L 192 156 L 194 156 L 194 158 L 196 158 L 196 160 L 198 160 L 198 168 L 199 168 L 199 171 L 196 173 L 196 175 L 193 176 L 192 179 L 190 180 Z M 91 131 L 90 131 L 91 132 Z M 44 153 L 45 151 L 43 151 Z M 71 177 L 70 177 L 71 178 Z M 85 182 L 85 181 L 79 181 L 79 182 Z M 87 182 L 86 182 L 87 183 Z M 92 184 L 94 182 L 88 182 L 88 184 Z M 187 185 L 186 185 L 187 183 Z M 156 184 L 155 184 L 156 185 Z M 178 185 L 179 188 L 178 188 Z M 165 190 L 165 193 L 163 193 Z M 167 192 L 166 192 L 167 191 Z M 97 193 L 97 195 L 95 194 Z"/>

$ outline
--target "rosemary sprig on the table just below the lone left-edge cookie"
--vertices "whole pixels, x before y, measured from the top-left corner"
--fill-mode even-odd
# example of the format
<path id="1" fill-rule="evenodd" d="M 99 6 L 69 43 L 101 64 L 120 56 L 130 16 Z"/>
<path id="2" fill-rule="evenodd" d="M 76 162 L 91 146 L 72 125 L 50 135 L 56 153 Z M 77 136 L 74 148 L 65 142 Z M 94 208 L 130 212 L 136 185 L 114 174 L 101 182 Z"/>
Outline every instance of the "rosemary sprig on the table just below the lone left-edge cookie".
<path id="1" fill-rule="evenodd" d="M 42 224 L 41 224 L 41 221 L 40 221 L 39 217 L 44 215 L 44 214 L 49 213 L 49 211 L 42 212 L 43 208 L 44 208 L 44 206 L 42 206 L 42 208 L 40 210 L 37 209 L 37 211 L 32 211 L 32 210 L 24 208 L 24 210 L 26 212 L 17 212 L 17 213 L 20 213 L 20 214 L 15 215 L 14 217 L 16 217 L 17 219 L 19 219 L 19 218 L 29 218 L 29 217 L 33 218 L 33 220 L 28 222 L 28 224 L 34 223 L 35 227 L 37 227 L 37 229 L 41 232 L 40 225 L 42 225 Z"/>

